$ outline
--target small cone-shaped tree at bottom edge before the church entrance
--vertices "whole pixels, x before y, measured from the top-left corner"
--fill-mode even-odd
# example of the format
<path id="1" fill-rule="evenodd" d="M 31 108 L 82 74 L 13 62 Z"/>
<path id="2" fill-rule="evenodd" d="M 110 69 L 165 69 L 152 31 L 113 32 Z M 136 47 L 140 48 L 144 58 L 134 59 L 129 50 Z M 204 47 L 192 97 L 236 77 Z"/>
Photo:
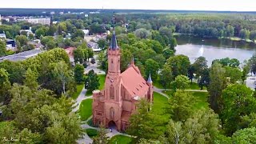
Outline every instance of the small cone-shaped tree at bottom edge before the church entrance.
<path id="1" fill-rule="evenodd" d="M 93 144 L 108 144 L 110 143 L 109 138 L 106 136 L 106 129 L 104 126 L 100 126 L 98 134 L 93 138 Z"/>

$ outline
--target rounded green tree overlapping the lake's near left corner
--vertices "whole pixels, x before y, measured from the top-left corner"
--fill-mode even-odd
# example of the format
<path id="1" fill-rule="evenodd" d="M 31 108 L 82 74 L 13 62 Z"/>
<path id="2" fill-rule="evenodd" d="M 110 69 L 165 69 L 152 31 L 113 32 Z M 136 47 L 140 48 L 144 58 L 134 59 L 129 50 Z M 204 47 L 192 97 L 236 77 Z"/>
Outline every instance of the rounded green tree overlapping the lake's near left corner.
<path id="1" fill-rule="evenodd" d="M 188 68 L 190 66 L 190 59 L 185 55 L 175 55 L 174 57 L 170 57 L 166 63 L 170 66 L 174 78 L 178 75 L 186 75 Z"/>

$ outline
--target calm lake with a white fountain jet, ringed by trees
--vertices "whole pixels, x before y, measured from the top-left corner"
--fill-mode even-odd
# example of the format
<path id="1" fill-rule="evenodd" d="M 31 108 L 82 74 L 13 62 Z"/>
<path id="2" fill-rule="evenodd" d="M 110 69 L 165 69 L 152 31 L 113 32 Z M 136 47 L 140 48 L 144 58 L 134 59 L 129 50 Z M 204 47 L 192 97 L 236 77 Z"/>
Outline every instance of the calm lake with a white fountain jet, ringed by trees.
<path id="1" fill-rule="evenodd" d="M 208 66 L 214 59 L 237 58 L 240 62 L 248 60 L 256 50 L 252 42 L 238 42 L 230 39 L 197 38 L 190 35 L 175 36 L 178 46 L 176 54 L 184 54 L 193 63 L 195 58 L 203 56 L 208 61 Z"/>

